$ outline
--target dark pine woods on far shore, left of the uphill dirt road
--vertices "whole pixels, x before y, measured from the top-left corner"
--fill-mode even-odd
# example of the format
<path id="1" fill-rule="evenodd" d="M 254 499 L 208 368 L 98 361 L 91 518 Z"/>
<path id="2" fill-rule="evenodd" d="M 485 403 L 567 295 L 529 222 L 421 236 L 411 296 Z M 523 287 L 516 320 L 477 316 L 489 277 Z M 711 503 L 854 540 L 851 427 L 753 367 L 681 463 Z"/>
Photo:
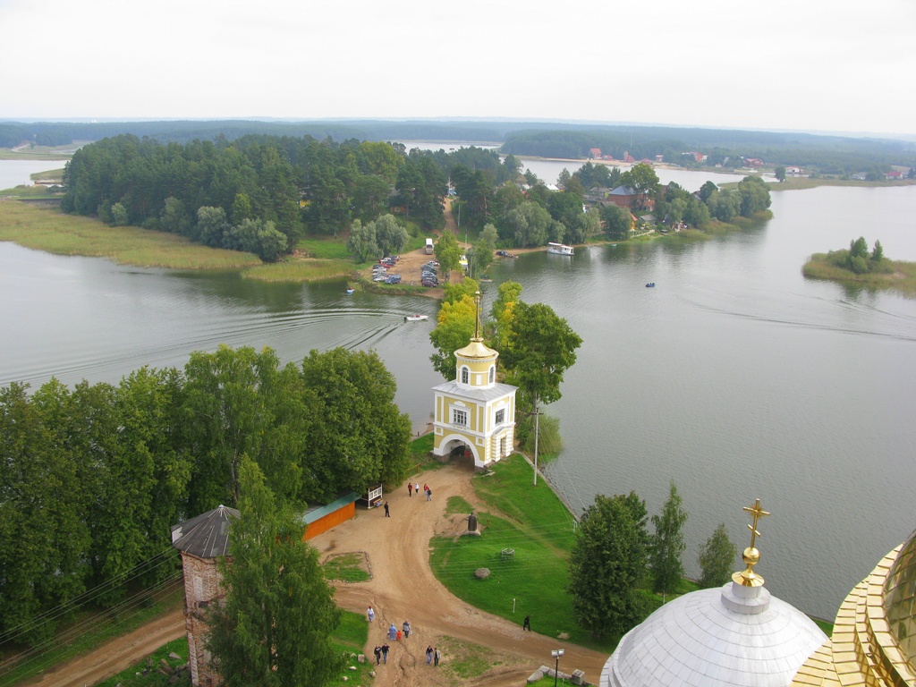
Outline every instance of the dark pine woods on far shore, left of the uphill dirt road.
<path id="1" fill-rule="evenodd" d="M 392 210 L 419 230 L 441 228 L 450 176 L 492 185 L 517 174 L 517 160 L 478 147 L 407 152 L 256 135 L 163 145 L 122 135 L 73 155 L 61 209 L 276 260 L 304 234 L 337 235 Z"/>

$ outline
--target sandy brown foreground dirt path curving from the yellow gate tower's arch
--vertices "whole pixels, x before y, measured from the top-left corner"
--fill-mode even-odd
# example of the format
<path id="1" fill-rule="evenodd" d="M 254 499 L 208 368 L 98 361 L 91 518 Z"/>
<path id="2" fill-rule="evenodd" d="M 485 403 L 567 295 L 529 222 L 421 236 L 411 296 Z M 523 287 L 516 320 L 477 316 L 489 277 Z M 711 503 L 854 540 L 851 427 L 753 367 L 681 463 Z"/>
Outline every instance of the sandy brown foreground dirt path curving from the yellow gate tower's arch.
<path id="1" fill-rule="evenodd" d="M 407 482 L 386 496 L 391 512 L 385 518 L 382 508 L 358 508 L 356 518 L 325 532 L 311 543 L 329 554 L 365 552 L 372 579 L 365 583 L 335 584 L 338 605 L 365 614 L 372 605 L 376 620 L 369 628 L 365 645 L 367 660 L 372 649 L 386 641 L 385 630 L 394 623 L 400 628 L 409 620 L 413 632 L 409 639 L 388 642 L 388 662 L 377 669 L 377 687 L 447 685 L 456 687 L 451 671 L 436 671 L 426 665 L 426 648 L 442 647 L 443 638 L 473 642 L 489 649 L 499 665 L 481 678 L 458 685 L 518 687 L 531 672 L 551 663 L 551 649 L 565 649 L 561 670 L 585 671 L 585 679 L 597 682 L 607 657 L 604 654 L 567 644 L 537 632 L 522 632 L 521 618 L 511 623 L 482 613 L 450 594 L 432 575 L 429 542 L 434 534 L 458 535 L 467 529 L 463 516 L 446 516 L 449 496 L 462 496 L 474 507 L 482 504 L 471 486 L 472 468 L 452 464 L 442 470 L 420 475 L 420 485 L 429 484 L 433 499 L 408 496 Z M 537 629 L 537 617 L 533 623 Z M 180 611 L 163 616 L 125 637 L 116 638 L 92 653 L 71 660 L 46 673 L 37 684 L 55 687 L 83 687 L 100 682 L 136 664 L 166 642 L 184 635 Z M 442 654 L 442 665 L 453 657 Z"/>

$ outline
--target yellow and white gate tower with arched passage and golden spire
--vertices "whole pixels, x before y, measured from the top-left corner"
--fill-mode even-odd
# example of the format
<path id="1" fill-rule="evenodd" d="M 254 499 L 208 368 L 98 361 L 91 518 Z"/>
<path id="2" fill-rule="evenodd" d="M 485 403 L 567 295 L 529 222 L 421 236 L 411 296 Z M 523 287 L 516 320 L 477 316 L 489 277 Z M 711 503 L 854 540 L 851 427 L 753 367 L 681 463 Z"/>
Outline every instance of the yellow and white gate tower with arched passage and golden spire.
<path id="1" fill-rule="evenodd" d="M 445 457 L 463 450 L 471 453 L 475 468 L 484 469 L 513 451 L 518 387 L 496 382 L 499 354 L 481 336 L 479 291 L 474 303 L 474 337 L 455 351 L 455 378 L 432 387 L 432 453 Z"/>

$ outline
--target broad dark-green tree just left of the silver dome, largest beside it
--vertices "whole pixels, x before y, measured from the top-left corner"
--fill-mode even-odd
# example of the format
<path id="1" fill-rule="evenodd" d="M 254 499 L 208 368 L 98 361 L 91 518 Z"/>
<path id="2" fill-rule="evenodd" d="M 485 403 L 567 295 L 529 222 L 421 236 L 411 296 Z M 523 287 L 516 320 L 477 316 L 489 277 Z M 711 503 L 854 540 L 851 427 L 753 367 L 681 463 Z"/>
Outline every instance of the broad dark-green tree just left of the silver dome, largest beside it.
<path id="1" fill-rule="evenodd" d="M 595 495 L 579 521 L 566 590 L 576 622 L 595 638 L 623 635 L 642 617 L 647 540 L 646 506 L 633 492 Z"/>

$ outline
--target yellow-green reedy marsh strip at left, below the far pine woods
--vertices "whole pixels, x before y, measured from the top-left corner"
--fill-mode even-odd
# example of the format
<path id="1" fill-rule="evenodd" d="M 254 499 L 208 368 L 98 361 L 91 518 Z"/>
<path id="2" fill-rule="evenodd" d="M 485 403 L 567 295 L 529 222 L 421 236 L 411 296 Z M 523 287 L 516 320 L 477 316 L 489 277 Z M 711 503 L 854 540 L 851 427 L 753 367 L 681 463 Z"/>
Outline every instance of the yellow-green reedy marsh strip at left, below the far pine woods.
<path id="1" fill-rule="evenodd" d="M 0 241 L 63 256 L 108 257 L 137 267 L 234 269 L 261 263 L 249 253 L 195 245 L 175 234 L 108 226 L 13 201 L 0 202 Z"/>

